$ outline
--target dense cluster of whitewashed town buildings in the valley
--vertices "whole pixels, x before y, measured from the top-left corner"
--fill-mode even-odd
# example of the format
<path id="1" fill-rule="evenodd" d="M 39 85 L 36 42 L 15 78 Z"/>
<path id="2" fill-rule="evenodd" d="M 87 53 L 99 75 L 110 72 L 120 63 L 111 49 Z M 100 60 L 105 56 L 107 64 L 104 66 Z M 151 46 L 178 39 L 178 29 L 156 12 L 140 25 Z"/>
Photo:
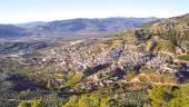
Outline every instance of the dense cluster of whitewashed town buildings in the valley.
<path id="1" fill-rule="evenodd" d="M 73 72 L 73 75 L 74 71 L 84 74 L 89 68 L 90 70 L 99 70 L 98 66 L 110 64 L 108 70 L 100 69 L 100 71 L 94 71 L 97 74 L 91 71 L 92 75 L 82 80 L 81 86 L 88 87 L 89 90 L 96 89 L 94 87 L 105 87 L 113 84 L 113 80 L 123 78 L 125 71 L 128 69 L 139 74 L 143 65 L 148 68 L 156 68 L 158 71 L 172 70 L 168 67 L 168 62 L 171 60 L 170 55 L 163 52 L 158 52 L 157 55 L 151 52 L 143 54 L 135 45 L 126 45 L 123 40 L 120 40 L 116 48 L 100 50 L 100 52 L 94 51 L 94 46 L 89 43 L 57 47 L 50 56 L 42 59 L 42 62 L 60 67 L 62 76 L 68 74 L 68 71 Z M 64 79 L 61 80 L 63 82 Z M 59 81 L 61 80 L 59 78 Z"/>

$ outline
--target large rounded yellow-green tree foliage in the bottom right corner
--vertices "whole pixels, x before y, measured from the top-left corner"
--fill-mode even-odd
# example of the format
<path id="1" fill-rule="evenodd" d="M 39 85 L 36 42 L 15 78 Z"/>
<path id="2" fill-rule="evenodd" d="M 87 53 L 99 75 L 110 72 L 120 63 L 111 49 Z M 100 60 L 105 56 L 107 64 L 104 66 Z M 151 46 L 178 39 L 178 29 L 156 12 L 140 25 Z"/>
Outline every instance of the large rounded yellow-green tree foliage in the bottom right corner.
<path id="1" fill-rule="evenodd" d="M 189 84 L 183 86 L 153 86 L 149 91 L 150 104 L 145 107 L 188 107 Z"/>

